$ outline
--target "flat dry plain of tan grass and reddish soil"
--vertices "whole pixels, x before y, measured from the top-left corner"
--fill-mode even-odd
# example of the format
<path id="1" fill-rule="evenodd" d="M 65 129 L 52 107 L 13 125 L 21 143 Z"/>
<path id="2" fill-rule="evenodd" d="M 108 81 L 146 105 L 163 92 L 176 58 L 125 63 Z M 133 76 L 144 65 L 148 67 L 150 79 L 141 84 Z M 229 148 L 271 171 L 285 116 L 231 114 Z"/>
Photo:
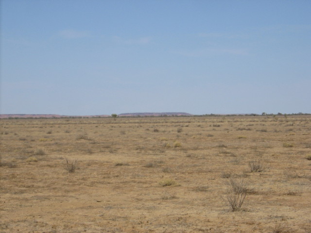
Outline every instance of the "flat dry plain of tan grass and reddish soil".
<path id="1" fill-rule="evenodd" d="M 311 116 L 0 126 L 0 233 L 311 232 Z M 237 211 L 230 181 L 247 187 Z"/>

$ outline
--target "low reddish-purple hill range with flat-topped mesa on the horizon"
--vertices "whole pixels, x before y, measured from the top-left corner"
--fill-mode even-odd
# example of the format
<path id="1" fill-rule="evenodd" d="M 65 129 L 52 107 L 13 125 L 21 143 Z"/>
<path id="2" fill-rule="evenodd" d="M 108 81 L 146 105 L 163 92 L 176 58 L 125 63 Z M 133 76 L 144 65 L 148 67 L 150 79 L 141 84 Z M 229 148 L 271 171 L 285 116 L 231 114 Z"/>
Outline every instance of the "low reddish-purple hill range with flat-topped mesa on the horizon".
<path id="1" fill-rule="evenodd" d="M 7 118 L 99 118 L 111 115 L 90 115 L 90 116 L 66 116 L 56 114 L 0 114 L 0 119 Z M 118 116 L 193 116 L 189 113 L 122 113 Z"/>

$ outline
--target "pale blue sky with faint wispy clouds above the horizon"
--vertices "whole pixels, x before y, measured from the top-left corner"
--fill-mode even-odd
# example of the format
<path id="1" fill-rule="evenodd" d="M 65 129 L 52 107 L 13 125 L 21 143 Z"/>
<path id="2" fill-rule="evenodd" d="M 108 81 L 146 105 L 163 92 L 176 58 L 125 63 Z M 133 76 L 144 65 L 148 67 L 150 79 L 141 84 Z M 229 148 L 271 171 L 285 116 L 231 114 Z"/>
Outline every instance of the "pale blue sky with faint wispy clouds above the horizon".
<path id="1" fill-rule="evenodd" d="M 310 0 L 1 0 L 0 113 L 311 113 Z"/>

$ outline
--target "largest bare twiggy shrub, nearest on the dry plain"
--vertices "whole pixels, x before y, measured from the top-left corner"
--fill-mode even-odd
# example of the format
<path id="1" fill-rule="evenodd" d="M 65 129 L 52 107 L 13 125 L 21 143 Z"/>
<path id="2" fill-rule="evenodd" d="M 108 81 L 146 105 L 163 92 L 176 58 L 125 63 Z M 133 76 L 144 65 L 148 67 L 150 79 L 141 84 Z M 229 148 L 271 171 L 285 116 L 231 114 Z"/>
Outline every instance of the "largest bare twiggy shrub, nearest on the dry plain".
<path id="1" fill-rule="evenodd" d="M 232 208 L 232 211 L 241 209 L 245 200 L 248 187 L 243 180 L 230 179 L 229 188 L 227 191 L 227 200 Z"/>

